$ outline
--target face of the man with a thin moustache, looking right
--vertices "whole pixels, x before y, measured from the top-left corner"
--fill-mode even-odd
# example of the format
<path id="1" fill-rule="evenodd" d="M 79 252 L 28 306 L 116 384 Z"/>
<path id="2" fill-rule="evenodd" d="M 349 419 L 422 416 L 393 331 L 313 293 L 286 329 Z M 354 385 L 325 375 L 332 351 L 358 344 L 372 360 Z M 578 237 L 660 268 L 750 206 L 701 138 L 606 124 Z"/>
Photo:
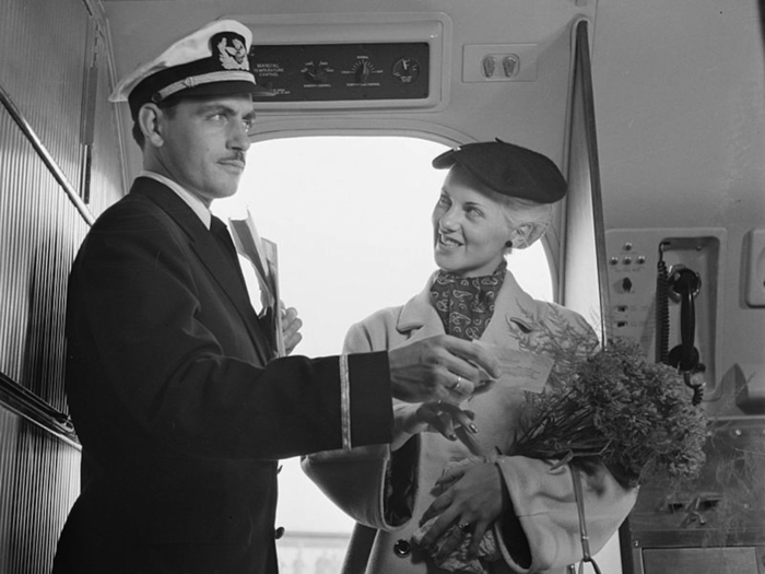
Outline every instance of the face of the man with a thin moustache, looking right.
<path id="1" fill-rule="evenodd" d="M 167 176 L 209 207 L 236 192 L 254 122 L 248 94 L 181 99 L 160 119 L 157 160 Z"/>

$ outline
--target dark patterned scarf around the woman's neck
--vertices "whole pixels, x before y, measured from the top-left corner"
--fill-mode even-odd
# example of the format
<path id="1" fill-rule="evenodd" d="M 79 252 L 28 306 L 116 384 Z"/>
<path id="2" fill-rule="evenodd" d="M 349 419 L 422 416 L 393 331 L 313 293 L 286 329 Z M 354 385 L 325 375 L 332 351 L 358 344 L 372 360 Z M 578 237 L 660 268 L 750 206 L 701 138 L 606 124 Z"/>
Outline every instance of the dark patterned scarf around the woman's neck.
<path id="1" fill-rule="evenodd" d="M 505 280 L 504 259 L 491 276 L 457 277 L 439 271 L 431 285 L 433 306 L 447 335 L 479 339 L 494 315 L 496 294 Z"/>

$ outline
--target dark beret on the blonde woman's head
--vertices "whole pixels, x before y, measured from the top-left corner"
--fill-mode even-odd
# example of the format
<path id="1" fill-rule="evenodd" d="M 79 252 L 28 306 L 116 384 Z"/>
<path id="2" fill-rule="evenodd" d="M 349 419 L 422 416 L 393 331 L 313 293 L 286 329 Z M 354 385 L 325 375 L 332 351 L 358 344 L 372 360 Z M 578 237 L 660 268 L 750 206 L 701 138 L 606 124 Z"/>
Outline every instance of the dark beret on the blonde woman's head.
<path id="1" fill-rule="evenodd" d="M 436 169 L 455 164 L 503 196 L 554 203 L 566 195 L 566 180 L 550 157 L 498 138 L 466 143 L 433 160 Z"/>

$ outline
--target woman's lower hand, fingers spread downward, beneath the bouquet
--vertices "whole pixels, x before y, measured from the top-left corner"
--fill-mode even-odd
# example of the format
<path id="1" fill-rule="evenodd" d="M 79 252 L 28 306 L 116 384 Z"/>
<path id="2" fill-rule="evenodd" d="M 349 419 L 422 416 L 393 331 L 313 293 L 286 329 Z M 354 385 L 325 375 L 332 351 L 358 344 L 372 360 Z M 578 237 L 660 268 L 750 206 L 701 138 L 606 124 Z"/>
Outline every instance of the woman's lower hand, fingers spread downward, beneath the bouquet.
<path id="1" fill-rule="evenodd" d="M 421 524 L 438 517 L 422 546 L 433 548 L 446 532 L 436 563 L 443 562 L 460 546 L 462 537 L 472 536 L 468 549 L 469 558 L 475 557 L 486 529 L 503 512 L 510 507 L 509 493 L 499 467 L 493 462 L 471 462 L 447 470 L 436 485 L 446 490 L 431 504 Z M 449 529 L 452 526 L 457 528 Z"/>

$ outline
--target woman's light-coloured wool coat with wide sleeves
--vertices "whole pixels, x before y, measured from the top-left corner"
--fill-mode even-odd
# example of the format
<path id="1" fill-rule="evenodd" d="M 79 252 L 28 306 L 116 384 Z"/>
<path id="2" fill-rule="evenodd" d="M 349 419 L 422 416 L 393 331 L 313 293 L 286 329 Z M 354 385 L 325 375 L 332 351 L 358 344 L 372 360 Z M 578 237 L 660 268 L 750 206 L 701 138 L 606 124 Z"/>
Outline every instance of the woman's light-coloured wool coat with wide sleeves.
<path id="1" fill-rule="evenodd" d="M 381 309 L 354 325 L 345 340 L 346 352 L 391 349 L 444 333 L 443 324 L 431 305 L 431 281 L 404 306 Z M 579 315 L 560 305 L 533 300 L 507 272 L 493 318 L 481 341 L 514 350 L 544 352 L 550 348 L 545 344 L 551 342 L 550 333 L 563 339 L 566 329 L 589 335 L 593 347 L 597 343 L 592 329 Z M 474 437 L 481 450 L 487 453 L 499 447 L 507 452 L 514 422 L 522 405 L 522 391 L 496 385 L 463 405 L 475 412 L 474 423 L 480 432 Z M 404 405 L 395 407 L 405 408 Z M 388 445 L 356 448 L 352 453 L 321 453 L 304 459 L 306 473 L 358 523 L 345 559 L 344 574 L 445 572 L 435 566 L 416 544 L 411 543 L 411 551 L 405 555 L 396 552 L 396 544 L 409 541 L 420 526 L 420 518 L 435 499 L 432 489 L 445 466 L 464 459 L 471 453 L 462 441 L 448 441 L 437 432 L 423 432 L 412 440 L 419 442 L 416 494 L 412 518 L 403 525 L 388 524 L 385 517 L 385 477 L 391 457 Z M 568 466 L 551 470 L 549 461 L 519 456 L 501 457 L 497 464 L 528 539 L 531 562 L 517 559 L 513 543 L 503 537 L 502 520 L 497 520 L 494 532 L 505 560 L 492 562 L 490 572 L 563 572 L 567 564 L 581 558 L 578 514 Z M 604 469 L 595 476 L 581 475 L 581 478 L 590 549 L 596 553 L 627 516 L 636 493 L 622 489 Z M 400 542 L 398 548 L 401 549 Z"/>

